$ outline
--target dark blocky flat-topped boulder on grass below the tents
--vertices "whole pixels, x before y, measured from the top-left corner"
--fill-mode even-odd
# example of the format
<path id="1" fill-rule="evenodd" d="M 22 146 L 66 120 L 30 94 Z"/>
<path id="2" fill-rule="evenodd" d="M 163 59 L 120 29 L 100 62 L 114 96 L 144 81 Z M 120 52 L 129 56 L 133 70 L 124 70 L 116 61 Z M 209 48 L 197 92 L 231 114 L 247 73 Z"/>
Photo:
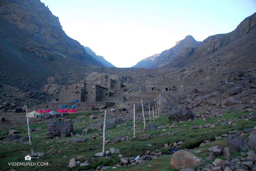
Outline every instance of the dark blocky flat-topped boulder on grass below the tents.
<path id="1" fill-rule="evenodd" d="M 47 125 L 45 138 L 61 137 L 62 134 L 70 137 L 71 132 L 73 132 L 73 123 L 71 121 L 52 122 Z"/>

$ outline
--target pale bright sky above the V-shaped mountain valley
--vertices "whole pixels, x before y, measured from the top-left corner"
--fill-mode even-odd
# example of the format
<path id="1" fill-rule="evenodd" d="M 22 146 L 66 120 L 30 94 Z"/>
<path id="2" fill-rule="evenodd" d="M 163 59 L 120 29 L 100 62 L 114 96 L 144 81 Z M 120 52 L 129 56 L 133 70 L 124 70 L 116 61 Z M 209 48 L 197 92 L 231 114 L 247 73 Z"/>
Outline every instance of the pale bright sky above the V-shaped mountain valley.
<path id="1" fill-rule="evenodd" d="M 192 35 L 229 33 L 256 12 L 255 0 L 41 0 L 65 33 L 118 68 Z"/>

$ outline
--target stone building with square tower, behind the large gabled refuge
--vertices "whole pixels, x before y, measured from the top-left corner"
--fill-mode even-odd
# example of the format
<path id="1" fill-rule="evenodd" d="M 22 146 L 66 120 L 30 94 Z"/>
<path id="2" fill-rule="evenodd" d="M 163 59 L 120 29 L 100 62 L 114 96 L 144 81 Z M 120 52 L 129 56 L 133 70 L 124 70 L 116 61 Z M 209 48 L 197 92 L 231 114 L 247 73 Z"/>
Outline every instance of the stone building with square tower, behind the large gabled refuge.
<path id="1" fill-rule="evenodd" d="M 111 78 L 108 78 L 106 74 L 102 76 L 100 86 L 107 88 L 108 91 L 112 93 L 124 93 L 125 91 L 127 91 L 125 89 L 126 86 L 123 84 L 122 81 L 115 81 Z"/>

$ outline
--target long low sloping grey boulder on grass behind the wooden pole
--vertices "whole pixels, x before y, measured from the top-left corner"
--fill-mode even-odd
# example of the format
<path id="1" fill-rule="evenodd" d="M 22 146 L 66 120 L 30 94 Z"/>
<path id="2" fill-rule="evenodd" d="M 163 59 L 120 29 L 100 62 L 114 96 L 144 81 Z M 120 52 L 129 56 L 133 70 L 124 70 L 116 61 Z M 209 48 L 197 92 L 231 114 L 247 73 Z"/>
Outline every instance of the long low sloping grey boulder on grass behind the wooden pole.
<path id="1" fill-rule="evenodd" d="M 113 128 L 114 126 L 123 123 L 124 120 L 121 118 L 107 118 L 106 119 L 106 130 Z M 84 129 L 85 132 L 87 132 L 87 129 L 92 129 L 92 130 L 103 130 L 103 124 L 104 121 L 100 121 L 97 123 L 93 123 L 91 125 L 89 125 L 87 128 Z M 84 132 L 83 131 L 83 132 Z"/>

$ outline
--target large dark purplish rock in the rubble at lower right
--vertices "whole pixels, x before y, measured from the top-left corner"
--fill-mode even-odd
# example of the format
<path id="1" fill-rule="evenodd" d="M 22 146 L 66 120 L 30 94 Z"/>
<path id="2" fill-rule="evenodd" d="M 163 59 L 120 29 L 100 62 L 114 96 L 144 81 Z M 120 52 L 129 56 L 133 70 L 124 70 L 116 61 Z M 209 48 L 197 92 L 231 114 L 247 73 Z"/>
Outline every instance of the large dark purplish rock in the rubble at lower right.
<path id="1" fill-rule="evenodd" d="M 227 147 L 229 147 L 229 150 L 231 153 L 240 151 L 245 151 L 246 147 L 248 147 L 241 137 L 236 138 L 228 138 L 227 141 Z"/>

